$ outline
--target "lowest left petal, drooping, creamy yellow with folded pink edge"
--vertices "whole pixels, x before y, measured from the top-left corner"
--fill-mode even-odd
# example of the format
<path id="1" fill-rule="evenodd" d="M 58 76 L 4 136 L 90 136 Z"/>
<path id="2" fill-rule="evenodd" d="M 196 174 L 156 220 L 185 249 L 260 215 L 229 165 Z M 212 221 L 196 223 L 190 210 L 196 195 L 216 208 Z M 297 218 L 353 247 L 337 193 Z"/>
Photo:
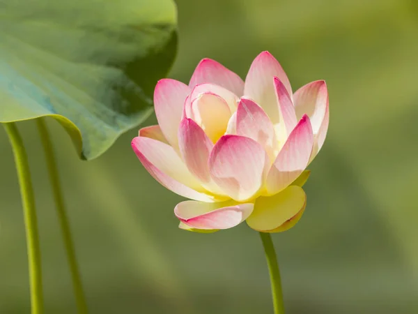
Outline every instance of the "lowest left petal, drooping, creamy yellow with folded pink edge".
<path id="1" fill-rule="evenodd" d="M 239 225 L 248 218 L 254 205 L 236 202 L 205 203 L 185 201 L 174 209 L 176 217 L 195 229 L 221 230 Z"/>

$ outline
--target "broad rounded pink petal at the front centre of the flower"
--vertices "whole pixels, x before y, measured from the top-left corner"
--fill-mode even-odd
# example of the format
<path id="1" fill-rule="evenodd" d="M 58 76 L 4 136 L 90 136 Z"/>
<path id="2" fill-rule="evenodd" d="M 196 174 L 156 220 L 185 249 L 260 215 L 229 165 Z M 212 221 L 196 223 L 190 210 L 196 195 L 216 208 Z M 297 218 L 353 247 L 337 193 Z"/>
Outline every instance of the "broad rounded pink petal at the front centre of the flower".
<path id="1" fill-rule="evenodd" d="M 224 135 L 209 156 L 213 181 L 233 200 L 244 202 L 261 188 L 269 166 L 268 155 L 256 141 Z"/>

